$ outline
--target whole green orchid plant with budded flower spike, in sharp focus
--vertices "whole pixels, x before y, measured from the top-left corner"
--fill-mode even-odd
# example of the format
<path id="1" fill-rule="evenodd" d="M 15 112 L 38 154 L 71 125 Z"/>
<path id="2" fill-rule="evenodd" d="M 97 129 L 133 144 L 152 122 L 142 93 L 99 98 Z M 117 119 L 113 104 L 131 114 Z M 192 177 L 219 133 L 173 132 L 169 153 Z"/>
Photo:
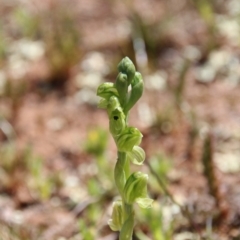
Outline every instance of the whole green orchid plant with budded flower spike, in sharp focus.
<path id="1" fill-rule="evenodd" d="M 147 195 L 148 175 L 142 172 L 130 173 L 130 163 L 142 165 L 145 152 L 139 146 L 141 132 L 128 126 L 130 109 L 143 94 L 143 79 L 136 72 L 132 61 L 125 57 L 118 65 L 119 74 L 115 83 L 103 83 L 97 89 L 101 97 L 99 108 L 107 110 L 109 130 L 118 149 L 114 179 L 121 200 L 114 201 L 109 226 L 119 231 L 119 240 L 132 240 L 134 228 L 134 203 L 150 208 L 153 200 Z M 130 89 L 130 90 L 129 90 Z"/>

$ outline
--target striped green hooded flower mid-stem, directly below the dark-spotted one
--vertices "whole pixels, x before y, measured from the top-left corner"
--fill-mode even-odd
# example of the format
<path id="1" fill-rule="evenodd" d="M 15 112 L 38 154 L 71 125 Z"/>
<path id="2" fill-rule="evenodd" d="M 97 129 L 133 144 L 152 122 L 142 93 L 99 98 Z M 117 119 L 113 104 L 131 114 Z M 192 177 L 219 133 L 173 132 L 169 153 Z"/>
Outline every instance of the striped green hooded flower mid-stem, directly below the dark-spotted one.
<path id="1" fill-rule="evenodd" d="M 126 127 L 124 131 L 115 139 L 118 151 L 130 152 L 135 145 L 142 141 L 141 132 L 134 127 Z"/>

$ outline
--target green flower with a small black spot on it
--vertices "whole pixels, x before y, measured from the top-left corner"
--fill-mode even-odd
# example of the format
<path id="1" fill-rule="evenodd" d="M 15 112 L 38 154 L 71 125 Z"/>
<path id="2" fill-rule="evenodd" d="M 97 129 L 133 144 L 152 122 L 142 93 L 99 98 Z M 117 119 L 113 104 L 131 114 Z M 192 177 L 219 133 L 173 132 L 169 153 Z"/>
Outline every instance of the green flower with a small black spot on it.
<path id="1" fill-rule="evenodd" d="M 125 129 L 125 115 L 120 107 L 112 111 L 109 119 L 109 129 L 113 137 L 118 136 Z"/>

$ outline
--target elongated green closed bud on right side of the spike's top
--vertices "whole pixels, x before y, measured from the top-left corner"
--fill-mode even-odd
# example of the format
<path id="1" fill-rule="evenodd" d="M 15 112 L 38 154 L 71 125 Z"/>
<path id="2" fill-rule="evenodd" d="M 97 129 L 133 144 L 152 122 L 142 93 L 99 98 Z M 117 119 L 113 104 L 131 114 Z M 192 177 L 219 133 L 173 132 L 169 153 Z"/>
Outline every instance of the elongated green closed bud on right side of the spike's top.
<path id="1" fill-rule="evenodd" d="M 143 94 L 144 86 L 143 86 L 143 79 L 142 79 L 141 73 L 139 72 L 135 73 L 131 86 L 132 86 L 132 90 L 130 92 L 130 96 L 128 98 L 127 104 L 124 107 L 125 111 L 127 112 L 134 106 L 134 104 L 138 101 L 138 99 Z"/>

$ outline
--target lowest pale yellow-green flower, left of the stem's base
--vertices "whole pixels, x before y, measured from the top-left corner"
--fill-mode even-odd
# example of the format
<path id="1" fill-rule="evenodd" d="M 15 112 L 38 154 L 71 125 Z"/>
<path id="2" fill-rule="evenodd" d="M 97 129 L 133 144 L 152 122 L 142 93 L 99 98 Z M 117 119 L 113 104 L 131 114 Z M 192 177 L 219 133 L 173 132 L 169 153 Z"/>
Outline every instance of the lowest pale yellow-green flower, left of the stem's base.
<path id="1" fill-rule="evenodd" d="M 114 201 L 113 202 L 113 211 L 112 211 L 112 218 L 108 221 L 109 227 L 113 231 L 120 231 L 123 225 L 123 207 L 122 201 Z"/>

